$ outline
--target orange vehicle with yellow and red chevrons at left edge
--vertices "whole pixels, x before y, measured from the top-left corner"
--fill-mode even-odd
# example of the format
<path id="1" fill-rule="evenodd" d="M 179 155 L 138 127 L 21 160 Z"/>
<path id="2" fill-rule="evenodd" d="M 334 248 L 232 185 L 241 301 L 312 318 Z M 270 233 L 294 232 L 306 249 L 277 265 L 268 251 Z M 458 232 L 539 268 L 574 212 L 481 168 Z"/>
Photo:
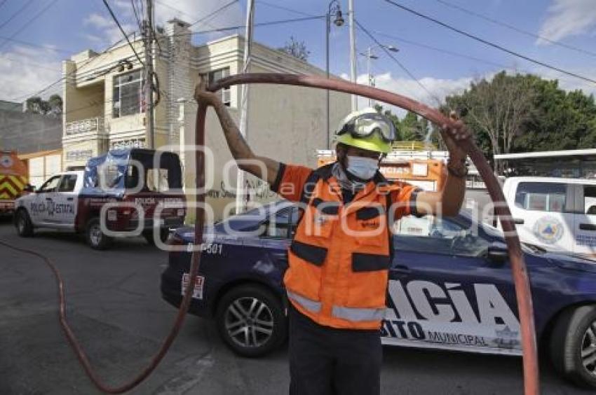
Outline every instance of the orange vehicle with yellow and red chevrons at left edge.
<path id="1" fill-rule="evenodd" d="M 27 165 L 14 151 L 0 151 L 0 215 L 12 214 L 15 199 L 25 193 Z"/>

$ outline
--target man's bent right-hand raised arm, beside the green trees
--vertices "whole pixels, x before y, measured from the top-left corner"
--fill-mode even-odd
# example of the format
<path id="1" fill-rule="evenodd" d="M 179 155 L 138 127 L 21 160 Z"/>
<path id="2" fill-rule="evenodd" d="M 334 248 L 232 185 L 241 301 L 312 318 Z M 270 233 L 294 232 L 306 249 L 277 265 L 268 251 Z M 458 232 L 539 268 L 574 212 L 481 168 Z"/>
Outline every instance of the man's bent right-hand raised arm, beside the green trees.
<path id="1" fill-rule="evenodd" d="M 469 130 L 461 123 L 456 122 L 454 127 L 443 125 L 447 133 L 445 144 L 449 150 L 447 180 L 442 190 L 438 192 L 425 191 L 416 196 L 416 212 L 419 214 L 442 214 L 456 216 L 459 214 L 463 195 L 466 193 L 466 152 L 459 146 L 459 141 L 470 138 Z M 462 176 L 463 175 L 463 176 Z"/>

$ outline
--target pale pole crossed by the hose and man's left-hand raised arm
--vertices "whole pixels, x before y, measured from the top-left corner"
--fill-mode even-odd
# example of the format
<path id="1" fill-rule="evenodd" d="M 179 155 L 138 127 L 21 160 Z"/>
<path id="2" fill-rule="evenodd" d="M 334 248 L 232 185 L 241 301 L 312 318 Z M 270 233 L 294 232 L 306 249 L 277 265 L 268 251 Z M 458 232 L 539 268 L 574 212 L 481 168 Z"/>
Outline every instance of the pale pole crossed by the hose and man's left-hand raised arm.
<path id="1" fill-rule="evenodd" d="M 252 51 L 252 27 L 255 22 L 255 0 L 247 0 L 246 28 L 244 35 L 244 67 L 243 74 L 248 73 L 250 67 L 250 53 Z M 240 109 L 240 133 L 248 141 L 248 84 L 242 85 L 242 103 Z M 246 207 L 245 201 L 245 174 L 238 169 L 236 176 L 236 214 L 240 214 Z"/>

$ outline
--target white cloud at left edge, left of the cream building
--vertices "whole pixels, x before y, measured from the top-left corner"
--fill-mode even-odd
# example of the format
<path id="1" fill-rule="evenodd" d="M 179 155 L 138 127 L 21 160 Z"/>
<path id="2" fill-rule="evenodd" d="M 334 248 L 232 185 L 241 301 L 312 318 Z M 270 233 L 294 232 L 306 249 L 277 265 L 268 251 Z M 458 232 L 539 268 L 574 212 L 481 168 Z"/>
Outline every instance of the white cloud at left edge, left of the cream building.
<path id="1" fill-rule="evenodd" d="M 60 55 L 50 48 L 33 50 L 14 46 L 11 50 L 0 53 L 1 99 L 22 102 L 61 76 Z M 48 97 L 53 93 L 62 95 L 61 83 L 43 92 L 41 96 Z"/>

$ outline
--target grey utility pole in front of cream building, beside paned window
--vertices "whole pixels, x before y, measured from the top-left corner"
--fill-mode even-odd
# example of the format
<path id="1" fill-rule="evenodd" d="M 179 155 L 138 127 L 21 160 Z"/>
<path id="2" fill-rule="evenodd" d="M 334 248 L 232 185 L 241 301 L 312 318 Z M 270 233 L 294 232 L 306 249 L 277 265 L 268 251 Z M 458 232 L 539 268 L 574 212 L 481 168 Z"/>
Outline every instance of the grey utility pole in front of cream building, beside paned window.
<path id="1" fill-rule="evenodd" d="M 153 111 L 153 0 L 147 0 L 147 19 L 143 20 L 145 49 L 145 116 L 147 116 L 147 148 L 155 148 L 155 118 Z"/>

